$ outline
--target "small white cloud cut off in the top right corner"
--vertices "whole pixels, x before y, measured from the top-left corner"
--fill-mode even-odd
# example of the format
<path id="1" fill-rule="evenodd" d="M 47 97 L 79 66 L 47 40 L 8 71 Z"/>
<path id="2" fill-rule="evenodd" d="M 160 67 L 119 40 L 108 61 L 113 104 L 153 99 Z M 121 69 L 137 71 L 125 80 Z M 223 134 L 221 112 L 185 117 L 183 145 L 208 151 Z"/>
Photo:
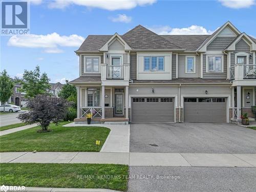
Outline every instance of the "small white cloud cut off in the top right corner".
<path id="1" fill-rule="evenodd" d="M 248 8 L 255 5 L 254 0 L 219 0 L 225 7 L 232 9 Z"/>

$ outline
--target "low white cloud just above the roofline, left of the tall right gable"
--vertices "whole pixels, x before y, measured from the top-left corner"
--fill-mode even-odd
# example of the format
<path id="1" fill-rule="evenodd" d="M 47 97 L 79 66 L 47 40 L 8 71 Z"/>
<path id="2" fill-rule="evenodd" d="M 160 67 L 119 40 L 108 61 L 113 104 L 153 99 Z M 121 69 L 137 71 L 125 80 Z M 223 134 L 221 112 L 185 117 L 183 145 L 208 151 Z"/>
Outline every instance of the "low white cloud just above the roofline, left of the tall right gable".
<path id="1" fill-rule="evenodd" d="M 170 26 L 155 26 L 149 28 L 159 35 L 208 35 L 214 31 L 205 29 L 202 26 L 191 25 L 187 28 L 172 28 Z"/>

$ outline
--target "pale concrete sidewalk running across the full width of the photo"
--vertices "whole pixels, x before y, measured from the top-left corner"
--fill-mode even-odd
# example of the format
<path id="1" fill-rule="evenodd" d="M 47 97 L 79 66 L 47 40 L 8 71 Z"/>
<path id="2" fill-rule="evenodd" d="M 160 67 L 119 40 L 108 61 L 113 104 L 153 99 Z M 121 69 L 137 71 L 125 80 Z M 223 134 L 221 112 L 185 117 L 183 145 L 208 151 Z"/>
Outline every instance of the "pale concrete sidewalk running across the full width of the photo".
<path id="1" fill-rule="evenodd" d="M 102 163 L 130 166 L 256 167 L 256 154 L 7 152 L 1 163 Z"/>

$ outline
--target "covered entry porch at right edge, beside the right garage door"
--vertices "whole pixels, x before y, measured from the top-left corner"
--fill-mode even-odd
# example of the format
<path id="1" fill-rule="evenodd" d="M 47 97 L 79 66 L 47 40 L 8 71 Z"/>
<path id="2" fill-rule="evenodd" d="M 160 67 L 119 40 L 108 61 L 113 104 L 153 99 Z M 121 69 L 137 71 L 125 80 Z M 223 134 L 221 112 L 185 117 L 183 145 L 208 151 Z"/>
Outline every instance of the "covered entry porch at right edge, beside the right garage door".
<path id="1" fill-rule="evenodd" d="M 232 121 L 240 122 L 241 115 L 247 113 L 250 122 L 256 122 L 255 112 L 252 106 L 256 106 L 256 87 L 255 86 L 234 86 Z"/>

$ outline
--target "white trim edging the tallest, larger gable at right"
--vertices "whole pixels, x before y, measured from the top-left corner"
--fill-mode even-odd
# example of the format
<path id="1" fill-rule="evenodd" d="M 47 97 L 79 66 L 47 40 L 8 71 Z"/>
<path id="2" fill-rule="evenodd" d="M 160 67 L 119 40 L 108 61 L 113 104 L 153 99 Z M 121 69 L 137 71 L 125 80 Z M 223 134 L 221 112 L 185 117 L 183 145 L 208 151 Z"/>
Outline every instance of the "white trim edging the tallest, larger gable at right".
<path id="1" fill-rule="evenodd" d="M 240 35 L 241 32 L 233 26 L 230 22 L 225 23 L 221 28 L 219 28 L 214 34 L 210 36 L 209 39 L 206 39 L 205 42 L 197 49 L 198 52 L 206 52 L 207 46 L 222 32 L 223 29 L 229 27 L 231 30 L 234 31 L 235 34 Z"/>

